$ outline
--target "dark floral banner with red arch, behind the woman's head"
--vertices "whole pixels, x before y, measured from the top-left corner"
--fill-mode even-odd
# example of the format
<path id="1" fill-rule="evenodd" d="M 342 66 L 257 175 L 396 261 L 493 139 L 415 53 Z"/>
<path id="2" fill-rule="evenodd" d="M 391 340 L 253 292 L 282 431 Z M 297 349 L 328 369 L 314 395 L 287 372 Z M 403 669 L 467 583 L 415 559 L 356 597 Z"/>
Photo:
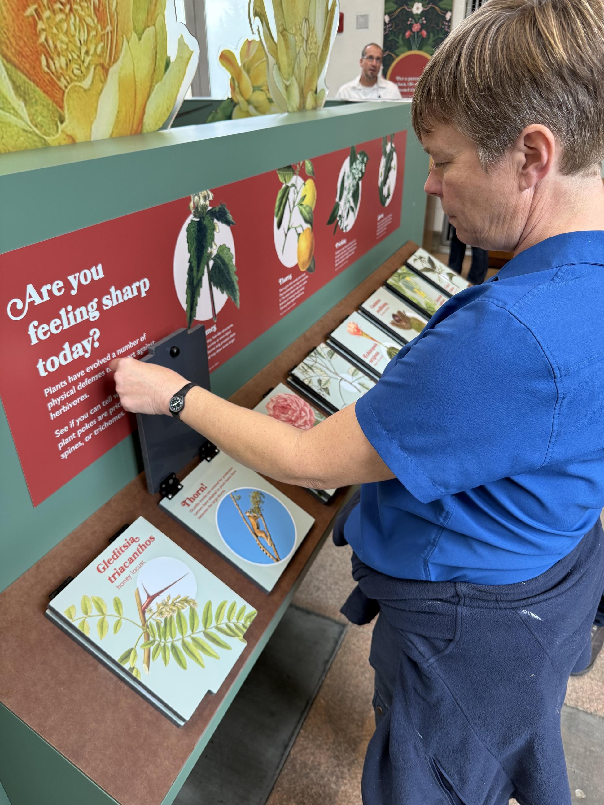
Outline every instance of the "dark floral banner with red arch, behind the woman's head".
<path id="1" fill-rule="evenodd" d="M 416 83 L 436 47 L 451 30 L 453 0 L 422 2 L 386 0 L 383 71 L 403 98 L 413 97 Z"/>

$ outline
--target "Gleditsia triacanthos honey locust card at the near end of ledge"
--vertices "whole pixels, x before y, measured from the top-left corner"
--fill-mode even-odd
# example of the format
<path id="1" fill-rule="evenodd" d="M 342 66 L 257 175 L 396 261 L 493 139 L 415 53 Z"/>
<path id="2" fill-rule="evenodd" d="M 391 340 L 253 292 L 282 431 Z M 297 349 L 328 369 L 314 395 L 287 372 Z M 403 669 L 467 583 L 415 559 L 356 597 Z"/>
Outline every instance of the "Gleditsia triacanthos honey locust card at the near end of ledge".
<path id="1" fill-rule="evenodd" d="M 256 612 L 139 517 L 52 597 L 46 615 L 182 726 L 225 681 Z"/>

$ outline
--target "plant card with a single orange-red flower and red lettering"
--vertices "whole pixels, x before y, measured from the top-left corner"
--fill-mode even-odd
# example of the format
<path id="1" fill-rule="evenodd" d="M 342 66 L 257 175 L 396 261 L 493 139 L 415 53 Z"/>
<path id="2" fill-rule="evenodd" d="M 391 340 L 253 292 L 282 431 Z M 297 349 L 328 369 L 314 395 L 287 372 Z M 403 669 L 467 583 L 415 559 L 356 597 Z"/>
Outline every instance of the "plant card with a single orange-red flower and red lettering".
<path id="1" fill-rule="evenodd" d="M 327 343 L 377 379 L 403 347 L 401 341 L 388 336 L 358 312 L 351 313 L 333 330 Z"/>

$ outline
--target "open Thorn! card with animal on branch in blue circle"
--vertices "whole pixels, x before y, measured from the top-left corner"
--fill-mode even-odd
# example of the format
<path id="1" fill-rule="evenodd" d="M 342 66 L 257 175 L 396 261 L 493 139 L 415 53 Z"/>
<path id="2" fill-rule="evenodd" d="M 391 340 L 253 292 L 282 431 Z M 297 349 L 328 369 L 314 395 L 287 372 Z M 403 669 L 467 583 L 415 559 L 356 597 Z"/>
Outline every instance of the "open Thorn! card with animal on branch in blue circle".
<path id="1" fill-rule="evenodd" d="M 226 453 L 201 461 L 159 506 L 271 592 L 314 518 Z"/>

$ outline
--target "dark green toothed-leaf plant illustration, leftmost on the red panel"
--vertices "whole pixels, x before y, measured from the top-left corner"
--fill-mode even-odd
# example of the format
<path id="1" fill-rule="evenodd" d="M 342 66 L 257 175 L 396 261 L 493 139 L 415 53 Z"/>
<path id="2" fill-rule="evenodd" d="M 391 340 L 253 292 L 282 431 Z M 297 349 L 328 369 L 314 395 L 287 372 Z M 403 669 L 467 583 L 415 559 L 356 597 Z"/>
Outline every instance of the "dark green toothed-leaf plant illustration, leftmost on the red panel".
<path id="1" fill-rule="evenodd" d="M 187 327 L 190 328 L 197 302 L 201 293 L 201 283 L 204 274 L 208 272 L 209 299 L 212 304 L 212 317 L 216 321 L 216 304 L 214 303 L 213 289 L 225 293 L 239 307 L 239 286 L 237 279 L 237 266 L 234 263 L 233 252 L 225 244 L 216 246 L 214 237 L 218 231 L 218 224 L 234 226 L 235 222 L 225 204 L 210 207 L 213 193 L 203 190 L 191 196 L 189 208 L 192 212 L 192 221 L 187 226 L 188 270 L 187 270 Z"/>

